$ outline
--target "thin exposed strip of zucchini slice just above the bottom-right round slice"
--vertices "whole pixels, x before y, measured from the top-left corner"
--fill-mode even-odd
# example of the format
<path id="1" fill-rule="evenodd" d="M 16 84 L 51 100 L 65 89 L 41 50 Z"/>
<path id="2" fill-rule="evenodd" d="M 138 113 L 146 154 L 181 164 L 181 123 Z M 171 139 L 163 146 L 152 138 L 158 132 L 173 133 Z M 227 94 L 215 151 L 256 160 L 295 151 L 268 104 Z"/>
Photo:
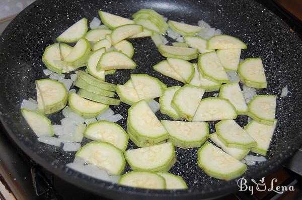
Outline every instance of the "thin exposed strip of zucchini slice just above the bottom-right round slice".
<path id="1" fill-rule="evenodd" d="M 239 149 L 239 148 L 234 148 L 234 147 L 227 147 L 218 138 L 216 132 L 210 134 L 210 140 L 213 141 L 218 147 L 220 147 L 225 153 L 233 156 L 237 160 L 242 160 L 250 152 L 250 149 Z"/>

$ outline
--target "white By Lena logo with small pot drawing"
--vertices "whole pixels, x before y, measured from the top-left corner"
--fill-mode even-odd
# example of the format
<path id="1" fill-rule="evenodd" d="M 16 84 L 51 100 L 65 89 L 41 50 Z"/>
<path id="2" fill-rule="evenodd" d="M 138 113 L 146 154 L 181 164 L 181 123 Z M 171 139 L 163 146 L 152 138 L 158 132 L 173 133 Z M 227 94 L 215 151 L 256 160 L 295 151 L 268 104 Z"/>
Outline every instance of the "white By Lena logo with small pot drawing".
<path id="1" fill-rule="evenodd" d="M 274 186 L 274 183 L 277 182 L 276 178 L 273 178 L 271 181 L 271 185 L 270 187 L 266 187 L 266 184 L 264 183 L 264 177 L 262 179 L 259 180 L 259 183 L 257 183 L 254 179 L 251 179 L 253 183 L 256 184 L 256 190 L 257 191 L 265 191 L 266 189 L 268 191 L 274 191 L 277 192 L 279 194 L 283 193 L 284 191 L 294 191 L 293 186 Z M 237 181 L 237 185 L 240 188 L 239 191 L 247 191 L 249 190 L 251 192 L 251 194 L 254 194 L 254 185 L 247 185 L 247 180 L 242 177 Z"/>

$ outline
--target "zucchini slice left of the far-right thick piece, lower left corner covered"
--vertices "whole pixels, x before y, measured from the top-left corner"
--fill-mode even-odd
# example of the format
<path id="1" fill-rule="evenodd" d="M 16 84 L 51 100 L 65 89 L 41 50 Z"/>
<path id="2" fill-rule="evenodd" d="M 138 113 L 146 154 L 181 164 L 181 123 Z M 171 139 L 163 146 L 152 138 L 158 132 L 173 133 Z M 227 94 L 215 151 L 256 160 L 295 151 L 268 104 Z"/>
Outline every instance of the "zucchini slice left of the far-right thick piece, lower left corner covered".
<path id="1" fill-rule="evenodd" d="M 247 104 L 238 82 L 221 85 L 219 97 L 228 98 L 237 110 L 238 115 L 247 115 Z"/>

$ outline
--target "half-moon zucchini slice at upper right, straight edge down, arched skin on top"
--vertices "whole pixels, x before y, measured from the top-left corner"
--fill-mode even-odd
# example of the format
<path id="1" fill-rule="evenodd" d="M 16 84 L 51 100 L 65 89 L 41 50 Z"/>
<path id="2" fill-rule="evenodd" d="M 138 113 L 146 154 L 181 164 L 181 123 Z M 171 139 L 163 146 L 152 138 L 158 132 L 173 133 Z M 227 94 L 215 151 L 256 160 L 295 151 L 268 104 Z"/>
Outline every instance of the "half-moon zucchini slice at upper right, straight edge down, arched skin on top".
<path id="1" fill-rule="evenodd" d="M 208 49 L 247 49 L 240 39 L 229 35 L 215 35 L 208 40 Z"/>

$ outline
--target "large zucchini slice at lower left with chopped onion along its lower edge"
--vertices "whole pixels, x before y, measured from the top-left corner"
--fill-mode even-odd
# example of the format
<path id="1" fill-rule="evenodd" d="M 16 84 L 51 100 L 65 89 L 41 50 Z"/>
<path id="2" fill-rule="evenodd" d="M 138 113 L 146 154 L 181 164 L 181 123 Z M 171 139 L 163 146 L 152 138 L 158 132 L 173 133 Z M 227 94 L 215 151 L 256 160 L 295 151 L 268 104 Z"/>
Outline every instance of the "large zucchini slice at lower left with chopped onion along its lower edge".
<path id="1" fill-rule="evenodd" d="M 75 156 L 105 169 L 111 175 L 120 175 L 126 165 L 123 152 L 108 142 L 90 142 L 79 149 Z"/>

